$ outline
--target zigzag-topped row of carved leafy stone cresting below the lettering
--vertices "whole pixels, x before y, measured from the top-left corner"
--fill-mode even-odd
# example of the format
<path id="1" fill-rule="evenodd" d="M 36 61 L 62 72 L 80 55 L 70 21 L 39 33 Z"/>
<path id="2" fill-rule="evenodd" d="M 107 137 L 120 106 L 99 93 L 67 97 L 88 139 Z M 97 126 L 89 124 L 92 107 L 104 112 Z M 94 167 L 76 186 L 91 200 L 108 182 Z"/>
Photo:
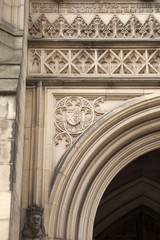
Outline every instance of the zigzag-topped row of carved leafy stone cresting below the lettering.
<path id="1" fill-rule="evenodd" d="M 141 23 L 135 16 L 123 23 L 117 15 L 114 15 L 108 24 L 105 24 L 99 15 L 96 15 L 90 24 L 77 15 L 71 24 L 63 15 L 51 23 L 44 14 L 35 21 L 29 16 L 30 38 L 53 39 L 125 39 L 125 38 L 159 38 L 160 22 L 149 15 L 145 23 Z"/>

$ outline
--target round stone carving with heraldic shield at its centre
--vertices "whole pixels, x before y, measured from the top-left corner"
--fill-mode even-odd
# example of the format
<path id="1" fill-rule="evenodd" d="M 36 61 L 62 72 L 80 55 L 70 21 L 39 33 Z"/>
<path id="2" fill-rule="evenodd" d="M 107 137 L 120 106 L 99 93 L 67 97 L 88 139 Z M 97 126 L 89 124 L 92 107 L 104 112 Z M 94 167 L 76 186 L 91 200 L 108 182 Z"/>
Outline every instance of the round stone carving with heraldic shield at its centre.
<path id="1" fill-rule="evenodd" d="M 83 97 L 65 97 L 54 110 L 55 124 L 71 135 L 82 133 L 94 120 L 92 105 Z"/>

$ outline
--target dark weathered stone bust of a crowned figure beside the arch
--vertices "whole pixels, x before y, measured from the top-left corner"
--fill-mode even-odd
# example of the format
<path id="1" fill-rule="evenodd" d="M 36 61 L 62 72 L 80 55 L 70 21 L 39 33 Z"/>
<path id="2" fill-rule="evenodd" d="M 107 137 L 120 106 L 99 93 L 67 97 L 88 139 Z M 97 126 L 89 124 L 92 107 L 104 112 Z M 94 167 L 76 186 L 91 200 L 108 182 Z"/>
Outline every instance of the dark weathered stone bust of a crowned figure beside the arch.
<path id="1" fill-rule="evenodd" d="M 27 222 L 24 226 L 22 236 L 25 240 L 40 239 L 46 240 L 44 226 L 42 223 L 43 208 L 33 205 L 27 209 Z"/>

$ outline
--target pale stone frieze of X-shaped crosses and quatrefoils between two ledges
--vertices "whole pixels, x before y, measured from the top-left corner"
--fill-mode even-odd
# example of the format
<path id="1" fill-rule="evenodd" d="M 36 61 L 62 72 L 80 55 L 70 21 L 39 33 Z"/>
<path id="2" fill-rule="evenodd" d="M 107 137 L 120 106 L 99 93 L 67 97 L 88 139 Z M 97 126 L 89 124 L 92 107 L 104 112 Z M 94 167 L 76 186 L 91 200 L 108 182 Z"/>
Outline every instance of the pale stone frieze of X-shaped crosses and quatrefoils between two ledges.
<path id="1" fill-rule="evenodd" d="M 159 76 L 160 49 L 30 49 L 34 75 Z"/>

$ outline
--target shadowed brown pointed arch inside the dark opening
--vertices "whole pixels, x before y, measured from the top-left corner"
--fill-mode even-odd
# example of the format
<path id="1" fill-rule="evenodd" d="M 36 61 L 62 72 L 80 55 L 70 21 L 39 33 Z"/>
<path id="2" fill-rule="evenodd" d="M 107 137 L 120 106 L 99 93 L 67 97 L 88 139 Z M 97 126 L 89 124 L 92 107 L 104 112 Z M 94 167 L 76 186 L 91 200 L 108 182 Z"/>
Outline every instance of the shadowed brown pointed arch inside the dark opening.
<path id="1" fill-rule="evenodd" d="M 146 177 L 140 177 L 111 192 L 99 205 L 95 236 L 103 235 L 107 227 L 141 205 L 160 214 L 159 193 L 160 184 Z"/>

